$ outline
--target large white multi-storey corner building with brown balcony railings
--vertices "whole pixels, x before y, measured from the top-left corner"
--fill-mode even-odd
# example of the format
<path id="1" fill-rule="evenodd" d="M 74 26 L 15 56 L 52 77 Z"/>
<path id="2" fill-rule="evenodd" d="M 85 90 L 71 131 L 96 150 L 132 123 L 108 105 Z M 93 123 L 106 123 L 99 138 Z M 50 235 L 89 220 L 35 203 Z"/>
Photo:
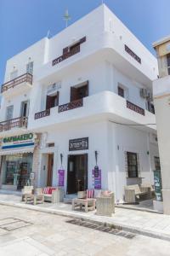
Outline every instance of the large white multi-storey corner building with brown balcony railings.
<path id="1" fill-rule="evenodd" d="M 125 185 L 153 183 L 156 78 L 156 58 L 104 4 L 15 55 L 2 86 L 1 188 L 30 175 L 65 194 L 101 182 L 122 201 Z"/>

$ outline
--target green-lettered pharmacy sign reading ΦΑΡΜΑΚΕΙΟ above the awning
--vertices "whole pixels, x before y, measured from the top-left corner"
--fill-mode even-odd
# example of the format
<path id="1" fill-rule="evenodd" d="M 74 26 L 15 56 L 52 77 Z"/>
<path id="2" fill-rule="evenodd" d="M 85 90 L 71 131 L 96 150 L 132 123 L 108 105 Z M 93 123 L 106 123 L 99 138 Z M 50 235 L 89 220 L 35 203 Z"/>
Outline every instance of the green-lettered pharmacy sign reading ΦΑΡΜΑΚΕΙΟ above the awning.
<path id="1" fill-rule="evenodd" d="M 1 148 L 19 148 L 34 145 L 35 137 L 33 133 L 26 133 L 13 137 L 4 137 Z"/>

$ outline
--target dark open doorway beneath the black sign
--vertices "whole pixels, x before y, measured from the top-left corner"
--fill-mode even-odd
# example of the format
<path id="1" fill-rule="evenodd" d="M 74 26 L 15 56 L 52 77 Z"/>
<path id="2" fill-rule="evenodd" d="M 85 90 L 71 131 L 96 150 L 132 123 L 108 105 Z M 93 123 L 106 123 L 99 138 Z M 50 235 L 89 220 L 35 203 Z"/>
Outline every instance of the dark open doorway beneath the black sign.
<path id="1" fill-rule="evenodd" d="M 88 154 L 68 156 L 67 194 L 88 189 Z"/>

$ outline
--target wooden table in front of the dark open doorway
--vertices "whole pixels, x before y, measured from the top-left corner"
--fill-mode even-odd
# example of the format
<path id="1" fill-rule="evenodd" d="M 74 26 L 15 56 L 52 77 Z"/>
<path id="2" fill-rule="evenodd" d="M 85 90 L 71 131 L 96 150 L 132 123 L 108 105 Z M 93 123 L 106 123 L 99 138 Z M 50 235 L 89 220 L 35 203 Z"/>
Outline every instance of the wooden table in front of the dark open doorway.
<path id="1" fill-rule="evenodd" d="M 77 207 L 79 207 L 81 210 L 84 208 L 85 212 L 88 212 L 88 210 L 95 210 L 95 199 L 74 198 L 72 200 L 72 210 L 75 210 Z"/>

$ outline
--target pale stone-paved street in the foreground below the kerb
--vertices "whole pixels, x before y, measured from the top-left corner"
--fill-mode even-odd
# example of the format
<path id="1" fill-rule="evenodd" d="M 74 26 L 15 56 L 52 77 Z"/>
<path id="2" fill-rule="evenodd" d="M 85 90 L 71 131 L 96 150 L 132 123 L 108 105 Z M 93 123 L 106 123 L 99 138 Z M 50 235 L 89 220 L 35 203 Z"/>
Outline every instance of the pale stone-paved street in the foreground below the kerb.
<path id="1" fill-rule="evenodd" d="M 0 256 L 169 255 L 170 242 L 125 238 L 67 223 L 71 218 L 0 206 Z"/>

